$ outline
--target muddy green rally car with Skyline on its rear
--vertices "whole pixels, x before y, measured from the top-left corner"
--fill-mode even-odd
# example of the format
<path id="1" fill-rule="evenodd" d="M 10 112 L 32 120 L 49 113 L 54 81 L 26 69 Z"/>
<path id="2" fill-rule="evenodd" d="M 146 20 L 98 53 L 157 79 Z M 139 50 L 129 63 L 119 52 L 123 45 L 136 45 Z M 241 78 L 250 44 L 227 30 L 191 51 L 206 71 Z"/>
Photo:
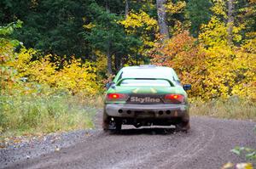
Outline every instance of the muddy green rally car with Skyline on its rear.
<path id="1" fill-rule="evenodd" d="M 176 72 L 155 65 L 129 66 L 107 84 L 102 127 L 120 130 L 122 125 L 170 126 L 189 130 L 189 102 Z"/>

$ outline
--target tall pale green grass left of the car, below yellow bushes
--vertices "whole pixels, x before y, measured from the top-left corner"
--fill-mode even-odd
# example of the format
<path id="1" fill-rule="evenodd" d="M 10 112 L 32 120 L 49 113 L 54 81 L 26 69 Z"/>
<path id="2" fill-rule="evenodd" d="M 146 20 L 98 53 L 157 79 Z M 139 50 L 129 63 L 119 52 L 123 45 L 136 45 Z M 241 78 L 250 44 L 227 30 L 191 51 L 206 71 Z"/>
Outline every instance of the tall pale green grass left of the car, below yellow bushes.
<path id="1" fill-rule="evenodd" d="M 98 101 L 97 101 L 98 100 Z M 1 95 L 2 137 L 92 128 L 101 98 L 55 93 L 51 95 Z"/>

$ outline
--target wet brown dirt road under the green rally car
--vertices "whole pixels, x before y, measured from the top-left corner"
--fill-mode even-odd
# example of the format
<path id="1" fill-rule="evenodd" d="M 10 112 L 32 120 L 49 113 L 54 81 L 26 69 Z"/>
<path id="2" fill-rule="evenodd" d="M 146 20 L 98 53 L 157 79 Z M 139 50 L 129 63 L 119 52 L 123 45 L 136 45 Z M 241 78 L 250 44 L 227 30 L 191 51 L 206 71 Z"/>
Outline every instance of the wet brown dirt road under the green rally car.
<path id="1" fill-rule="evenodd" d="M 8 168 L 216 169 L 228 161 L 245 161 L 230 149 L 236 145 L 256 148 L 254 125 L 250 121 L 192 117 L 188 133 L 134 127 L 115 134 L 99 131 L 71 147 L 18 161 Z"/>

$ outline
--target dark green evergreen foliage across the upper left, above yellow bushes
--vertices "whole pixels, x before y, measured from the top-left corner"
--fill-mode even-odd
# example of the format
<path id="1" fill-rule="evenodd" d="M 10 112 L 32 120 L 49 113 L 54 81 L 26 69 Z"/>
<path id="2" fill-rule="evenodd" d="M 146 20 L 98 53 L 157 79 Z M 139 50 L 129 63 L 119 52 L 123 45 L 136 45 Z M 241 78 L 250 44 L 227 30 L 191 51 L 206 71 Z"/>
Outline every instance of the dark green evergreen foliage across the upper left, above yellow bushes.
<path id="1" fill-rule="evenodd" d="M 131 60 L 141 59 L 143 55 L 137 52 L 143 46 L 140 35 L 127 35 L 122 25 L 117 24 L 118 20 L 124 19 L 125 1 L 6 0 L 0 4 L 3 24 L 17 19 L 24 21 L 13 37 L 23 42 L 26 48 L 64 59 L 74 55 L 84 61 L 96 60 L 98 50 L 106 54 L 109 46 L 114 58 L 113 70 L 119 70 L 119 66 L 127 63 L 133 64 Z M 129 9 L 143 9 L 156 16 L 153 1 L 129 1 Z M 87 29 L 84 25 L 96 26 Z M 154 40 L 154 34 L 151 37 Z"/>

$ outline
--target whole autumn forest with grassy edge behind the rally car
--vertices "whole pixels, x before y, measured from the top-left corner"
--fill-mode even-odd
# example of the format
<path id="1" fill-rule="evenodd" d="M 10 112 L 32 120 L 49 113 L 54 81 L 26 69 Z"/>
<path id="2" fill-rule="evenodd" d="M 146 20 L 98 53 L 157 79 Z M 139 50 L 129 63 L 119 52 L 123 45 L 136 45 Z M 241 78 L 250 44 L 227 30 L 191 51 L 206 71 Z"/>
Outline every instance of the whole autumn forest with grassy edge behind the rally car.
<path id="1" fill-rule="evenodd" d="M 256 120 L 255 0 L 2 0 L 0 9 L 0 132 L 92 127 L 104 84 L 148 64 L 192 84 L 192 113 Z"/>

